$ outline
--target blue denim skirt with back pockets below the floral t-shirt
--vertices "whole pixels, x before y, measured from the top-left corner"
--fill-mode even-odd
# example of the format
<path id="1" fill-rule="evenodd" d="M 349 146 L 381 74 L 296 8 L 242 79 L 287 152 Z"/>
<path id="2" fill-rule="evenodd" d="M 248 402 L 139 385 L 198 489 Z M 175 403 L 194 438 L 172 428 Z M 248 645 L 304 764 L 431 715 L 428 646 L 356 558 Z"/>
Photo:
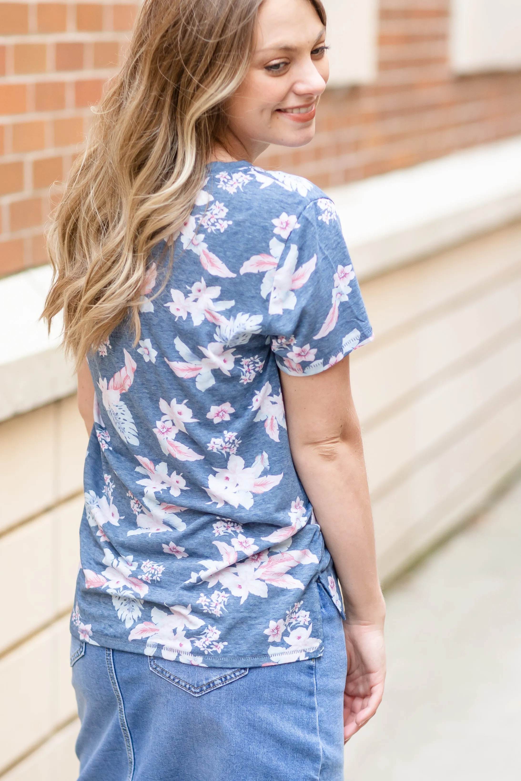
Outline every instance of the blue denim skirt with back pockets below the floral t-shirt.
<path id="1" fill-rule="evenodd" d="M 216 669 L 73 639 L 79 781 L 342 781 L 346 653 L 318 586 L 323 656 Z"/>

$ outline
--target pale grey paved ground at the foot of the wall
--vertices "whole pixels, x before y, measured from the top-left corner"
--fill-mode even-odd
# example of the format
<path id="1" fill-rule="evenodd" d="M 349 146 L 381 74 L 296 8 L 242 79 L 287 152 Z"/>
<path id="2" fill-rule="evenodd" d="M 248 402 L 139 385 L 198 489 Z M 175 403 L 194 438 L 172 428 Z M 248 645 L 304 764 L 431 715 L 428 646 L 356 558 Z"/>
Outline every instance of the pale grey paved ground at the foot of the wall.
<path id="1" fill-rule="evenodd" d="M 519 781 L 521 483 L 386 596 L 387 690 L 346 781 Z"/>

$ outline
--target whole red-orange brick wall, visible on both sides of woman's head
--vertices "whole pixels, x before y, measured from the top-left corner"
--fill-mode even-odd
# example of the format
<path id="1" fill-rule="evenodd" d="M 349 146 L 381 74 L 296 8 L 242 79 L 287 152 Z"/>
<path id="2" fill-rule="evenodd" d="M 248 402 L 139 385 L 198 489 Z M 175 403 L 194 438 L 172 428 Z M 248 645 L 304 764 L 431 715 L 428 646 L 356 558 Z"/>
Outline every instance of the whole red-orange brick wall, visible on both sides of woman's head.
<path id="1" fill-rule="evenodd" d="M 70 167 L 134 8 L 0 2 L 0 274 L 45 262 L 48 187 Z M 376 82 L 327 92 L 315 141 L 262 164 L 328 187 L 521 133 L 521 73 L 454 77 L 448 8 L 380 0 Z"/>

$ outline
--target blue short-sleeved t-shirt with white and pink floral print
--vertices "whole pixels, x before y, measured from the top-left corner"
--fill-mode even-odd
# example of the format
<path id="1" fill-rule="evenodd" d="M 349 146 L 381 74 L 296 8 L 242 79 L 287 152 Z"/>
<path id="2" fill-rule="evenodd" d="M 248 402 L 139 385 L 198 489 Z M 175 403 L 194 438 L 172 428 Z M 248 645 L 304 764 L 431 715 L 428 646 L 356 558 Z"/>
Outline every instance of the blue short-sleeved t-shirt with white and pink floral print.
<path id="1" fill-rule="evenodd" d="M 323 192 L 246 162 L 208 174 L 152 252 L 139 343 L 118 326 L 89 358 L 71 631 L 195 665 L 294 662 L 323 653 L 318 582 L 342 604 L 278 372 L 322 372 L 371 327 Z"/>

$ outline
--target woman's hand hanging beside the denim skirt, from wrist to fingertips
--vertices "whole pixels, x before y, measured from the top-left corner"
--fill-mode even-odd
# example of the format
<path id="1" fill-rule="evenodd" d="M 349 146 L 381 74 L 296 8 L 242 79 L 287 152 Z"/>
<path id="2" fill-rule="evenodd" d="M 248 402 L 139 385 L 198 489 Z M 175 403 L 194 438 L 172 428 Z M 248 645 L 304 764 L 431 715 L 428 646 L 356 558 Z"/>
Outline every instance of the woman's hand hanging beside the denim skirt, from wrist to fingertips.
<path id="1" fill-rule="evenodd" d="M 344 742 L 375 715 L 384 694 L 384 628 L 344 621 L 348 675 L 344 690 Z"/>

